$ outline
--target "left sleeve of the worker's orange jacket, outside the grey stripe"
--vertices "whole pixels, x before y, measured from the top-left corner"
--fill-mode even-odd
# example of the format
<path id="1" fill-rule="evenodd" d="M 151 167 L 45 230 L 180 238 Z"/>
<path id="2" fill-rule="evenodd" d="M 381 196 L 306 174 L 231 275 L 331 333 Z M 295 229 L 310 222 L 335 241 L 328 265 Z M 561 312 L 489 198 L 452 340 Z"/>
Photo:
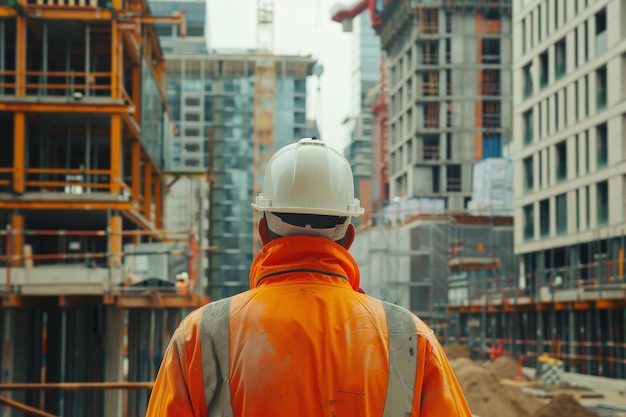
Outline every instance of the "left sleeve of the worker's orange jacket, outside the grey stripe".
<path id="1" fill-rule="evenodd" d="M 157 374 L 146 417 L 207 415 L 199 330 L 193 313 L 174 332 Z"/>

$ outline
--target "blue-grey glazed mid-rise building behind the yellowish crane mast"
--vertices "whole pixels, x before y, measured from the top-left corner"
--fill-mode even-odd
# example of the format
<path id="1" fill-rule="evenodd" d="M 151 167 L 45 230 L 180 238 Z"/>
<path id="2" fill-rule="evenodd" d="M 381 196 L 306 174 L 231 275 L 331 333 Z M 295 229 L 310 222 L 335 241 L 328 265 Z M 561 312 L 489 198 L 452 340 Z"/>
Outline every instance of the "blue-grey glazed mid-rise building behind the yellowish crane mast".
<path id="1" fill-rule="evenodd" d="M 167 91 L 177 120 L 172 167 L 210 171 L 209 255 L 212 299 L 248 288 L 252 263 L 254 51 L 168 54 Z M 310 56 L 276 56 L 276 149 L 307 135 Z M 209 159 L 208 156 L 211 156 Z M 178 168 L 176 168 L 178 167 Z"/>

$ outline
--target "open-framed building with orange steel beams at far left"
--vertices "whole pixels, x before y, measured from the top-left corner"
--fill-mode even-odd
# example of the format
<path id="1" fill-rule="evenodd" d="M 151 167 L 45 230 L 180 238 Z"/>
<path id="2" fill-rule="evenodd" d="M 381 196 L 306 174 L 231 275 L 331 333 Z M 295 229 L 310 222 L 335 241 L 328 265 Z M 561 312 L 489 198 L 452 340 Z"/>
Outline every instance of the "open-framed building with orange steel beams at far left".
<path id="1" fill-rule="evenodd" d="M 204 248 L 163 230 L 173 132 L 152 24 L 184 33 L 183 16 L 144 0 L 0 2 L 5 406 L 142 415 L 170 333 L 206 302 Z"/>

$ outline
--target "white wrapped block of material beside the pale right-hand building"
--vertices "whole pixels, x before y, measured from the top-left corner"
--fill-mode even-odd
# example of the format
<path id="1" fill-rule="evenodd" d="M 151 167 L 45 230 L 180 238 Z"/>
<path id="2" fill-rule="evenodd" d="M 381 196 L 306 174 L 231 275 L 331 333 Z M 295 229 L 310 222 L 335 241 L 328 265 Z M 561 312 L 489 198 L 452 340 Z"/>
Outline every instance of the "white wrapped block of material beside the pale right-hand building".
<path id="1" fill-rule="evenodd" d="M 513 215 L 513 160 L 487 158 L 474 163 L 472 214 Z"/>

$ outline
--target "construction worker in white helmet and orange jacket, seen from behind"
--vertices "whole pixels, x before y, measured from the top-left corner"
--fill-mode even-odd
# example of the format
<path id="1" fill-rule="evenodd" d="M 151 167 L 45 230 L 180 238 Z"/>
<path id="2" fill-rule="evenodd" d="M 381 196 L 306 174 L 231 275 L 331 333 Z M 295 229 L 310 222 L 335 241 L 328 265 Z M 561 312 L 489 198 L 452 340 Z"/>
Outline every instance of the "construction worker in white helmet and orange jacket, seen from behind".
<path id="1" fill-rule="evenodd" d="M 268 161 L 250 290 L 188 315 L 147 416 L 471 416 L 432 330 L 359 292 L 350 166 L 316 139 Z"/>

